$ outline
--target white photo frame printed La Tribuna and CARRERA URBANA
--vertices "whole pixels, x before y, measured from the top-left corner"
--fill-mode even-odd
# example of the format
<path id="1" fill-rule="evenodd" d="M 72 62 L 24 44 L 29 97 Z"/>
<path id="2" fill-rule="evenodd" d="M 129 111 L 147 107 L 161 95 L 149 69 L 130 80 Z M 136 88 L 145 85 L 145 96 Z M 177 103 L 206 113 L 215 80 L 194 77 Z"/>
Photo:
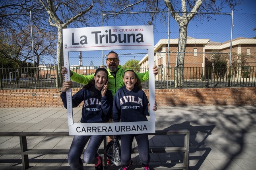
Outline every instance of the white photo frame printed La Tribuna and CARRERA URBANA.
<path id="1" fill-rule="evenodd" d="M 122 42 L 126 36 L 126 42 Z M 130 38 L 129 38 L 130 36 Z M 118 39 L 120 38 L 120 40 Z M 74 123 L 72 94 L 67 94 L 68 129 L 70 135 L 142 134 L 155 132 L 155 82 L 153 26 L 102 26 L 63 29 L 65 81 L 70 80 L 69 52 L 122 49 L 148 49 L 150 121 L 120 123 Z"/>

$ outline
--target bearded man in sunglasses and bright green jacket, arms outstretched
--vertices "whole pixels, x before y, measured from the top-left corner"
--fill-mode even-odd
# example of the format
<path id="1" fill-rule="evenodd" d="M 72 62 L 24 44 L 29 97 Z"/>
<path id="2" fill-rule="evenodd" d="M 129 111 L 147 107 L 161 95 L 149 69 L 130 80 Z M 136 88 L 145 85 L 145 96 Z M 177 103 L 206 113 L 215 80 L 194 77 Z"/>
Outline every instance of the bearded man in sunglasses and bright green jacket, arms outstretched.
<path id="1" fill-rule="evenodd" d="M 119 65 L 119 57 L 118 54 L 114 51 L 110 51 L 107 55 L 106 59 L 107 66 L 109 67 L 107 71 L 109 72 L 109 82 L 108 89 L 112 92 L 112 95 L 116 94 L 116 91 L 124 86 L 123 75 L 127 69 L 123 69 L 121 65 Z M 67 73 L 67 69 L 62 66 L 61 73 L 63 76 Z M 148 71 L 145 73 L 136 73 L 140 79 L 140 81 L 147 81 L 149 79 Z M 158 74 L 157 66 L 153 66 L 153 74 Z M 84 76 L 82 74 L 78 74 L 74 71 L 70 71 L 70 78 L 72 81 L 75 81 L 80 84 L 87 84 L 91 79 L 93 79 L 93 74 Z"/>

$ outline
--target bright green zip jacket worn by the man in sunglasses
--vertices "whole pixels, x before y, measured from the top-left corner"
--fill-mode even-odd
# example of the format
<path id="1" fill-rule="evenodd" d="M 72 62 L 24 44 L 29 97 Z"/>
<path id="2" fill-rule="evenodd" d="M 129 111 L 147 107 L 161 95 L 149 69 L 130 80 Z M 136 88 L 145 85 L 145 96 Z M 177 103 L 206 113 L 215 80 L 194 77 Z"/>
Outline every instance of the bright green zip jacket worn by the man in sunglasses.
<path id="1" fill-rule="evenodd" d="M 123 82 L 123 75 L 124 72 L 127 69 L 123 69 L 121 65 L 118 66 L 118 71 L 116 72 L 116 78 L 114 78 L 114 76 L 111 75 L 111 73 L 109 72 L 109 68 L 107 69 L 107 71 L 109 72 L 109 82 L 108 82 L 108 89 L 112 92 L 112 95 L 114 97 L 114 94 L 116 94 L 116 91 L 124 86 L 124 82 Z M 93 79 L 94 74 L 88 75 L 88 76 L 84 76 L 83 74 L 77 74 L 76 72 L 73 72 L 73 75 L 70 77 L 72 81 L 75 81 L 77 83 L 80 84 L 88 84 L 89 81 L 91 79 Z M 137 73 L 140 81 L 147 81 L 149 79 L 148 76 L 148 71 L 145 73 Z"/>

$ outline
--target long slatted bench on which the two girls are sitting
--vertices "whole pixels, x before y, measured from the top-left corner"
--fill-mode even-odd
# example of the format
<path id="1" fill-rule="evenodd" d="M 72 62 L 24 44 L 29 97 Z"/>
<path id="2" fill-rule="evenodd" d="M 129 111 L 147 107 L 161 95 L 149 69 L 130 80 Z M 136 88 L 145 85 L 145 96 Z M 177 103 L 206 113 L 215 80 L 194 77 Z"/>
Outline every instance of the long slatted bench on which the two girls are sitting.
<path id="1" fill-rule="evenodd" d="M 150 147 L 149 153 L 173 153 L 183 152 L 183 162 L 175 164 L 150 164 L 152 170 L 172 170 L 188 169 L 188 148 L 189 148 L 189 131 L 188 130 L 156 130 L 155 133 L 148 135 L 184 135 L 184 146 L 182 147 Z M 68 155 L 69 149 L 28 149 L 27 136 L 46 136 L 46 137 L 64 137 L 70 136 L 68 132 L 0 132 L 0 136 L 17 136 L 20 141 L 20 149 L 0 149 L 0 155 L 21 155 L 22 166 L 0 166 L 0 170 L 44 170 L 46 166 L 29 166 L 28 155 Z M 107 146 L 107 140 L 104 139 L 104 148 Z M 104 154 L 104 149 L 98 150 L 99 154 Z M 132 153 L 138 153 L 138 148 L 132 148 Z M 107 158 L 105 157 L 105 166 Z M 120 167 L 120 166 L 118 166 Z M 105 167 L 109 170 L 118 169 L 117 166 Z M 85 166 L 86 170 L 95 170 L 94 166 Z M 129 170 L 143 169 L 141 165 L 131 165 Z M 47 166 L 47 170 L 70 170 L 70 166 Z"/>

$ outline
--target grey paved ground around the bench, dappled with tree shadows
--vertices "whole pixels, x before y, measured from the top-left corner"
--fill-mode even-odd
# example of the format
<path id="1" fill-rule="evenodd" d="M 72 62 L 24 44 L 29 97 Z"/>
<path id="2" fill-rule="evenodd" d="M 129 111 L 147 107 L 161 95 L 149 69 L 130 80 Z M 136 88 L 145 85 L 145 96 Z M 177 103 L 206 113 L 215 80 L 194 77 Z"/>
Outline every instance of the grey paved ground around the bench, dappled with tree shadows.
<path id="1" fill-rule="evenodd" d="M 81 108 L 74 108 L 79 122 Z M 190 170 L 255 170 L 256 106 L 158 107 L 156 130 L 190 131 Z M 64 108 L 0 108 L 0 131 L 68 131 Z M 29 137 L 29 148 L 69 149 L 72 137 Z M 150 145 L 179 145 L 180 138 L 150 136 Z M 102 147 L 102 146 L 101 146 Z M 0 137 L 0 149 L 19 148 L 19 138 Z M 31 166 L 68 166 L 67 155 L 31 155 Z M 151 155 L 152 164 L 179 162 L 179 153 Z M 132 160 L 140 164 L 138 155 Z M 22 166 L 19 155 L 0 155 L 0 166 Z"/>

